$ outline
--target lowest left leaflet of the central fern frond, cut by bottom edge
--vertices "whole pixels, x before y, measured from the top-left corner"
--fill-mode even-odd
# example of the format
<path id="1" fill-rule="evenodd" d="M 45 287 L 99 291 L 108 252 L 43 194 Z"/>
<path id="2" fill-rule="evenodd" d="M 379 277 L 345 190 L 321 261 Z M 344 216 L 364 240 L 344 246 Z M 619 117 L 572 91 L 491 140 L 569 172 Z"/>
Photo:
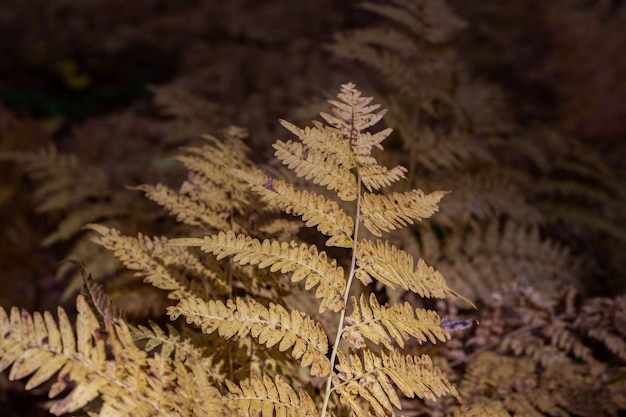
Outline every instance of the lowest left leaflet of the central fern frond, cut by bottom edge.
<path id="1" fill-rule="evenodd" d="M 250 379 L 239 385 L 226 380 L 230 394 L 225 401 L 235 411 L 235 415 L 246 416 L 284 416 L 284 417 L 317 417 L 318 411 L 309 394 L 302 388 L 296 391 L 276 376 L 272 380 L 267 375 L 263 379 L 252 375 Z"/>

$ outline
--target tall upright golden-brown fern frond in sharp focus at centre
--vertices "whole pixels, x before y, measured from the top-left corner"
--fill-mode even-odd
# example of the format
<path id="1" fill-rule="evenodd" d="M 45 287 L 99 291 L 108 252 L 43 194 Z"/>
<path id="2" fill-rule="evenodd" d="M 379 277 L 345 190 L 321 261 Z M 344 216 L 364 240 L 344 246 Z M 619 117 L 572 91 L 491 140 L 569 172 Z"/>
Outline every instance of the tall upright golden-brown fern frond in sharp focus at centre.
<path id="1" fill-rule="evenodd" d="M 426 366 L 424 361 L 428 357 L 404 357 L 393 343 L 395 340 L 403 346 L 410 337 L 420 342 L 445 341 L 447 332 L 441 327 L 434 311 L 413 311 L 408 305 L 381 307 L 374 295 L 370 296 L 369 303 L 362 299 L 359 305 L 354 297 L 348 296 L 353 279 L 356 277 L 364 283 L 378 280 L 384 285 L 396 284 L 426 297 L 445 298 L 455 296 L 456 293 L 447 287 L 440 274 L 423 261 L 414 266 L 410 255 L 390 246 L 388 242 L 379 241 L 375 244 L 366 239 L 358 240 L 358 233 L 363 226 L 372 234 L 381 236 L 383 231 L 430 217 L 437 210 L 437 203 L 445 192 L 426 194 L 413 190 L 389 195 L 374 193 L 403 178 L 406 172 L 402 167 L 389 170 L 378 165 L 372 155 L 372 149 L 381 148 L 380 143 L 391 130 L 370 133 L 366 129 L 380 121 L 385 111 L 378 110 L 378 105 L 371 105 L 371 99 L 362 97 L 352 84 L 342 86 L 338 99 L 330 101 L 333 106 L 330 113 L 321 114 L 328 125 L 315 122 L 312 127 L 301 129 L 282 121 L 283 126 L 299 140 L 278 141 L 274 148 L 277 158 L 297 176 L 335 193 L 339 200 L 353 202 L 357 210 L 355 217 L 340 208 L 339 202 L 335 202 L 332 197 L 313 190 L 300 191 L 288 181 L 270 177 L 259 170 L 246 170 L 228 164 L 224 164 L 223 169 L 247 182 L 268 205 L 302 217 L 308 227 L 317 228 L 328 237 L 327 246 L 351 249 L 353 261 L 347 277 L 343 268 L 325 252 L 296 241 L 261 241 L 232 231 L 201 239 L 171 241 L 176 246 L 200 247 L 217 259 L 230 257 L 236 264 L 257 265 L 259 268 L 269 268 L 272 272 L 290 274 L 293 282 L 304 281 L 306 290 L 317 286 L 315 297 L 321 299 L 320 313 L 327 309 L 340 312 L 332 350 L 329 351 L 327 345 L 319 345 L 321 340 L 324 343 L 326 341 L 320 323 L 302 311 L 288 312 L 273 303 L 266 307 L 252 299 L 237 298 L 223 303 L 186 298 L 169 311 L 173 318 L 185 316 L 189 323 L 194 323 L 205 333 L 218 331 L 226 338 L 250 334 L 268 347 L 278 345 L 280 351 L 293 346 L 292 355 L 300 360 L 301 366 L 308 367 L 312 375 L 328 377 L 322 415 L 327 412 L 333 392 L 337 392 L 341 402 L 348 404 L 357 415 L 366 415 L 365 410 L 370 407 L 376 413 L 386 413 L 394 406 L 400 407 L 392 382 L 411 397 L 434 398 L 446 393 L 455 394 L 454 388 L 437 368 L 433 368 L 432 364 Z M 390 252 L 387 254 L 387 251 Z M 394 272 L 387 277 L 383 272 L 386 270 Z M 350 307 L 352 313 L 344 322 L 346 309 Z M 297 326 L 294 326 L 294 320 L 299 323 Z M 308 324 L 302 327 L 305 323 Z M 356 349 L 350 354 L 350 361 L 344 359 L 339 349 L 342 337 Z M 363 338 L 386 348 L 370 350 L 364 345 Z M 329 353 L 330 361 L 326 356 Z M 364 365 L 360 355 L 363 355 L 362 360 L 366 364 L 367 377 L 361 371 Z M 336 359 L 339 360 L 338 373 L 332 370 Z M 370 363 L 374 368 L 370 368 Z M 387 377 L 390 379 L 386 380 Z M 352 388 L 377 378 L 387 382 L 380 382 L 383 385 L 372 386 L 365 391 L 354 391 Z M 416 381 L 425 379 L 431 382 L 428 385 L 416 385 Z M 246 384 L 248 391 L 254 395 L 267 391 L 267 397 L 257 398 L 257 408 L 253 408 L 251 403 L 250 410 L 265 409 L 263 403 L 273 401 L 274 396 L 269 394 L 275 391 L 271 380 L 265 377 L 253 378 Z M 243 388 L 242 385 L 242 392 L 245 392 Z M 305 401 L 302 397 L 299 400 L 293 395 L 291 397 L 296 403 Z M 244 410 L 247 408 L 244 407 Z"/>

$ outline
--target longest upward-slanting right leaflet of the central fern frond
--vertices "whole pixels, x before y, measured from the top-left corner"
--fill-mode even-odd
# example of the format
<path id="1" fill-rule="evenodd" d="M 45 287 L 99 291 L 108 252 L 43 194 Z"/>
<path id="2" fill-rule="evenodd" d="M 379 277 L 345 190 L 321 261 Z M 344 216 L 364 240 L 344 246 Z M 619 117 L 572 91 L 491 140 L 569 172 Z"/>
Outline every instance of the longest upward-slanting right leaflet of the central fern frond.
<path id="1" fill-rule="evenodd" d="M 394 192 L 388 196 L 363 193 L 363 225 L 375 236 L 382 236 L 381 231 L 389 232 L 432 216 L 439 210 L 438 203 L 446 194 L 446 191 L 424 194 L 421 190 Z"/>

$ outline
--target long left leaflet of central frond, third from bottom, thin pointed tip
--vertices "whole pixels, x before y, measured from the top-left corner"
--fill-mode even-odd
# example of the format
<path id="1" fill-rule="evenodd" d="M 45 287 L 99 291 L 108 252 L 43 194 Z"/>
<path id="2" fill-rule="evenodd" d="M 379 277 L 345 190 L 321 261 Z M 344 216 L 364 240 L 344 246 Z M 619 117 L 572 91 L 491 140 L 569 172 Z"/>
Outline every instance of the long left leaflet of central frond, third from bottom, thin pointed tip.
<path id="1" fill-rule="evenodd" d="M 217 259 L 233 255 L 233 262 L 240 265 L 258 265 L 270 267 L 271 272 L 285 274 L 293 272 L 291 280 L 304 279 L 305 288 L 311 289 L 319 284 L 315 297 L 321 298 L 320 312 L 327 309 L 339 311 L 344 308 L 343 293 L 346 281 L 343 268 L 335 259 L 328 258 L 326 252 L 318 252 L 315 245 L 307 246 L 296 241 L 278 242 L 265 239 L 263 242 L 243 234 L 235 235 L 232 231 L 220 232 L 203 239 L 172 239 L 172 245 L 200 246 L 204 252 L 214 254 Z"/>

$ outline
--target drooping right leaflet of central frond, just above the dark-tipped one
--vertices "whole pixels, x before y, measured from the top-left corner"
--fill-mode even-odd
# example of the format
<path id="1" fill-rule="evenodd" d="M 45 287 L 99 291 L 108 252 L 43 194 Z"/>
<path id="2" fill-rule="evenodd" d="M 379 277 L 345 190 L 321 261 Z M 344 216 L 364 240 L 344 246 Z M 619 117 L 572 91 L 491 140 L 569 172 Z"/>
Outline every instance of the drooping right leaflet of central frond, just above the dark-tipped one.
<path id="1" fill-rule="evenodd" d="M 413 256 L 388 241 L 361 240 L 357 245 L 357 278 L 365 284 L 373 277 L 395 289 L 396 285 L 426 298 L 460 297 L 446 284 L 440 272 L 428 266 L 423 259 L 417 265 Z"/>

